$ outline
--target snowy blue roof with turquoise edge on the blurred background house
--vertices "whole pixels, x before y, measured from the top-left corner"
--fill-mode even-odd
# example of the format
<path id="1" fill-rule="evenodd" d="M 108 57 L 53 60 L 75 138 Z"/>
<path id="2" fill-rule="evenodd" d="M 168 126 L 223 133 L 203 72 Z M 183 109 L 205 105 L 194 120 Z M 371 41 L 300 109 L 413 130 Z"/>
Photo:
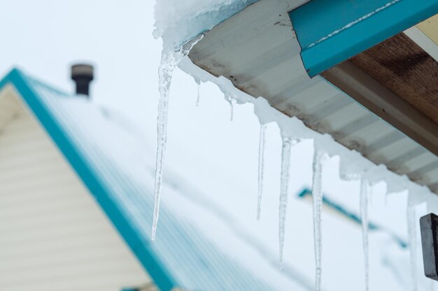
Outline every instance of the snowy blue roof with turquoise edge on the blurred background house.
<path id="1" fill-rule="evenodd" d="M 136 149 L 125 130 L 111 124 L 104 112 L 85 98 L 17 69 L 0 81 L 0 90 L 8 84 L 22 96 L 160 290 L 274 290 L 165 203 L 157 239 L 150 240 L 153 191 L 139 173 L 153 173 L 134 156 Z"/>

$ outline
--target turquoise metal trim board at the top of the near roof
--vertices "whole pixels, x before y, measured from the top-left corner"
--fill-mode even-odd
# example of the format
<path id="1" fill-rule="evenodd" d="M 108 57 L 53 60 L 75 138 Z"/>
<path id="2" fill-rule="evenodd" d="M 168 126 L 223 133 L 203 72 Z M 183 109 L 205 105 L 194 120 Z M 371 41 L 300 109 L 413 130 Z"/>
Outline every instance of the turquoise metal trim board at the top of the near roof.
<path id="1" fill-rule="evenodd" d="M 290 11 L 313 77 L 438 13 L 438 0 L 312 0 Z"/>

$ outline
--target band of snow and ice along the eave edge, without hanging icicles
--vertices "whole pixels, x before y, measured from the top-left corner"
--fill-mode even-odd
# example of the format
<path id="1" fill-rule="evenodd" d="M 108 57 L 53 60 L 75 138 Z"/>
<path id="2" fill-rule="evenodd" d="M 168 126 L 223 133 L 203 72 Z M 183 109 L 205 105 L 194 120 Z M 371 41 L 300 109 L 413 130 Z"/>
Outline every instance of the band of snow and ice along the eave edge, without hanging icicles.
<path id="1" fill-rule="evenodd" d="M 268 101 L 262 96 L 253 98 L 253 96 L 236 89 L 227 78 L 222 76 L 215 77 L 205 70 L 202 70 L 202 68 L 193 64 L 188 57 L 185 57 L 178 64 L 178 67 L 194 77 L 195 80 L 217 84 L 224 93 L 225 98 L 227 98 L 226 96 L 232 96 L 238 104 L 253 104 L 254 113 L 259 119 L 260 124 L 276 123 L 283 137 L 288 137 L 297 142 L 309 139 L 314 140 L 316 149 L 323 150 L 330 156 L 339 156 L 341 161 L 339 177 L 341 177 L 341 179 L 347 181 L 357 180 L 363 175 L 370 184 L 386 181 L 388 193 L 397 193 L 404 190 L 415 193 L 416 198 L 414 200 L 416 204 L 429 199 L 438 201 L 437 195 L 430 192 L 427 187 L 414 183 L 409 180 L 407 176 L 400 176 L 391 172 L 385 165 L 375 165 L 363 157 L 358 151 L 348 149 L 334 141 L 330 135 L 321 135 L 311 128 L 306 127 L 304 123 L 296 117 L 288 117 L 282 112 L 279 112 L 274 107 L 271 107 Z M 323 146 L 324 148 L 322 148 Z"/>

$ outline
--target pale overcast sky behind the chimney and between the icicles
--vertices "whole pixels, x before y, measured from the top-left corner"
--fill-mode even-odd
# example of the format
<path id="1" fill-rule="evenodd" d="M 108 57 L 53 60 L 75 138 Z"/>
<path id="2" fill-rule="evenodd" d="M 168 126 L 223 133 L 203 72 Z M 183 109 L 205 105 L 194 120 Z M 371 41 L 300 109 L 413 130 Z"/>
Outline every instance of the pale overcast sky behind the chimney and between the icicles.
<path id="1" fill-rule="evenodd" d="M 0 10 L 0 75 L 5 75 L 8 70 L 17 66 L 48 84 L 65 91 L 73 91 L 73 84 L 69 80 L 69 65 L 76 61 L 92 61 L 96 66 L 92 99 L 139 122 L 139 128 L 144 130 L 150 140 L 151 147 L 145 150 L 150 151 L 151 158 L 155 159 L 157 67 L 160 61 L 161 40 L 155 40 L 151 34 L 154 1 L 3 2 Z M 250 228 L 251 232 L 260 232 L 262 227 L 257 228 L 259 226 L 254 222 L 259 126 L 252 113 L 252 107 L 236 105 L 234 121 L 230 122 L 229 105 L 223 100 L 215 85 L 202 84 L 199 107 L 195 107 L 196 97 L 195 82 L 181 70 L 177 70 L 171 87 L 166 166 L 178 170 L 182 177 L 204 192 L 214 189 L 214 193 L 219 195 L 211 195 L 211 200 L 227 209 L 242 225 Z M 292 149 L 291 193 L 296 193 L 303 186 L 310 184 L 312 151 L 311 142 L 303 142 Z M 262 205 L 263 230 L 270 229 L 262 238 L 267 245 L 278 244 L 276 219 L 280 154 L 281 139 L 278 129 L 270 125 L 267 133 L 264 193 L 266 197 Z M 337 158 L 333 158 L 325 167 L 324 192 L 332 194 L 346 206 L 357 210 L 358 183 L 340 181 L 337 167 Z M 387 223 L 394 232 L 403 236 L 404 200 L 390 197 L 393 204 L 390 204 L 389 208 L 384 207 L 384 186 L 379 185 L 375 190 L 377 194 L 374 195 L 371 219 Z M 166 195 L 165 191 L 162 194 Z M 296 258 L 299 260 L 298 266 L 311 273 L 311 208 L 306 206 L 302 211 L 304 204 L 297 204 L 293 200 L 290 204 L 292 206 L 286 225 L 288 231 L 285 257 L 290 260 Z M 306 223 L 297 223 L 300 220 Z M 301 231 L 304 231 L 306 236 L 296 243 L 299 238 L 295 234 Z M 357 230 L 357 234 L 360 234 L 360 230 Z M 333 249 L 331 245 L 338 244 L 339 239 L 342 239 L 339 237 L 342 235 L 341 230 L 328 229 L 324 235 L 325 249 L 329 250 Z M 354 244 L 356 246 L 351 246 L 349 251 L 360 252 L 360 237 L 355 238 Z M 348 246 L 346 241 L 340 245 Z M 372 251 L 378 252 L 374 254 L 378 260 L 379 246 L 373 246 Z M 330 257 L 327 254 L 323 255 Z M 344 258 L 345 256 L 347 258 Z M 344 257 L 340 260 L 348 260 L 348 255 L 344 254 Z M 380 262 L 372 261 L 372 266 L 378 263 Z M 323 264 L 323 267 L 326 270 L 325 274 L 332 274 L 330 278 L 329 275 L 324 275 L 323 282 L 339 284 L 339 278 L 333 274 L 339 273 L 341 269 L 330 270 L 330 265 L 326 264 Z M 356 280 L 362 285 L 360 272 L 360 267 L 355 269 L 355 275 L 347 282 Z M 373 271 L 371 276 L 372 286 L 379 287 L 381 283 L 375 281 L 379 276 Z M 351 285 L 338 285 L 338 290 L 352 289 Z"/>

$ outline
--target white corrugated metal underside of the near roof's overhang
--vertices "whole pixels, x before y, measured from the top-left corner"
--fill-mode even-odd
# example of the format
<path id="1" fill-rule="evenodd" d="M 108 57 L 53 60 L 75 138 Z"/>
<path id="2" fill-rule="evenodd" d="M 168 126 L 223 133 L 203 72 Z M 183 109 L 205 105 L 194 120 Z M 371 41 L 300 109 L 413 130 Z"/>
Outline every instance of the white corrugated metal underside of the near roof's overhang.
<path id="1" fill-rule="evenodd" d="M 438 157 L 328 83 L 307 75 L 288 11 L 306 0 L 260 0 L 218 24 L 190 51 L 194 64 L 241 91 L 407 174 L 438 193 Z M 414 40 L 415 41 L 415 40 Z M 421 44 L 419 44 L 421 45 Z"/>

